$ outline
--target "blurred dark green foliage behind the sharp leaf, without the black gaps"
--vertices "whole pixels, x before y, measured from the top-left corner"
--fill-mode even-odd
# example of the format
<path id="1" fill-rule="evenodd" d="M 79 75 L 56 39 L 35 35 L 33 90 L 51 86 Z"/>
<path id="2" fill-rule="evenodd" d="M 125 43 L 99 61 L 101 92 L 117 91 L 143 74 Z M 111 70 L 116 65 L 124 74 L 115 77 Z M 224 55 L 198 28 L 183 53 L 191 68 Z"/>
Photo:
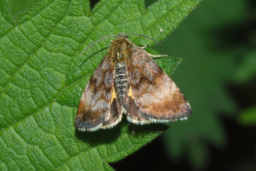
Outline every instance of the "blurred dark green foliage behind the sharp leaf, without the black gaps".
<path id="1" fill-rule="evenodd" d="M 13 5 L 17 1 L 8 2 L 17 18 L 35 0 L 20 1 L 19 9 Z M 146 6 L 152 3 L 146 1 Z M 252 88 L 256 88 L 256 32 L 248 30 L 256 20 L 252 4 L 246 0 L 203 0 L 161 43 L 163 48 L 156 46 L 163 54 L 184 59 L 172 79 L 193 110 L 187 121 L 169 124 L 164 133 L 171 159 L 187 155 L 192 167 L 205 168 L 210 159 L 208 146 L 222 148 L 228 141 L 221 117 L 255 124 L 255 104 L 240 109 L 227 91 L 230 84 L 243 87 L 254 82 Z M 237 111 L 241 111 L 239 117 Z"/>

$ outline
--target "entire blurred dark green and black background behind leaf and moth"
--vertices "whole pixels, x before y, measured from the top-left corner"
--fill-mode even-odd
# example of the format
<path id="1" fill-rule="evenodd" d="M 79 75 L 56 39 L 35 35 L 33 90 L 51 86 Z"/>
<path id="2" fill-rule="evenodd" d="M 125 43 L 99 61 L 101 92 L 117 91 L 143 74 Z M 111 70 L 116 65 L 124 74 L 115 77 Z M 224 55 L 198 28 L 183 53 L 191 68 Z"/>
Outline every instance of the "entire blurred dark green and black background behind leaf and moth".
<path id="1" fill-rule="evenodd" d="M 8 0 L 17 18 L 37 0 Z M 91 8 L 97 1 L 91 1 Z M 154 1 L 146 1 L 149 7 Z M 184 59 L 171 78 L 193 114 L 116 170 L 256 170 L 256 2 L 203 0 L 155 46 Z"/>

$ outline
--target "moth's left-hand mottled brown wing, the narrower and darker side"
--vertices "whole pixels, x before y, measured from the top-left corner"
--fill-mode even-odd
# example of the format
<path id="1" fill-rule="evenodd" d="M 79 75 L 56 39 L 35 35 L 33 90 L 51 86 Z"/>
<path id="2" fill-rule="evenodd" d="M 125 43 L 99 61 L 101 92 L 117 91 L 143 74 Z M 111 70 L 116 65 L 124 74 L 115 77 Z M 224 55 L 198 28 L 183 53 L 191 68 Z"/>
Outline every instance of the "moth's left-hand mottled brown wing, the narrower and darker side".
<path id="1" fill-rule="evenodd" d="M 122 113 L 114 89 L 114 67 L 107 53 L 87 84 L 76 114 L 75 127 L 80 131 L 112 128 L 121 121 Z"/>

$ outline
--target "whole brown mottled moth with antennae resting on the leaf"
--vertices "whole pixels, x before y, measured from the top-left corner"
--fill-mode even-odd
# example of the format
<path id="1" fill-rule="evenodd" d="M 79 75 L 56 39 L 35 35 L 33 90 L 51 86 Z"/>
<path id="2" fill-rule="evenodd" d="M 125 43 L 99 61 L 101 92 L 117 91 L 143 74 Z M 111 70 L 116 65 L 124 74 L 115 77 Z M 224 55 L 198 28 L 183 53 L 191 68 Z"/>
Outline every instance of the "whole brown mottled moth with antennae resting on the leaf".
<path id="1" fill-rule="evenodd" d="M 112 40 L 82 94 L 76 129 L 91 132 L 113 128 L 123 114 L 130 123 L 141 125 L 186 120 L 192 114 L 180 89 L 151 58 L 160 56 L 133 44 L 128 35 L 138 34 L 105 37 L 116 36 L 116 39 Z"/>

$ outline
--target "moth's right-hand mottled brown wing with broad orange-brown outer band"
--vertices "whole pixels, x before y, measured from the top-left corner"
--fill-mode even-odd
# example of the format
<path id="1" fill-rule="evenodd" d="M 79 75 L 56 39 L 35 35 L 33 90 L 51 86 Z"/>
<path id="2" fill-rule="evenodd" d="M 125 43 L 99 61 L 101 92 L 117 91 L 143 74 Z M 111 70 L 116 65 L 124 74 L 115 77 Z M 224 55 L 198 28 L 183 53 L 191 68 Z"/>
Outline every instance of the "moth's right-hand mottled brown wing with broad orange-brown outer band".
<path id="1" fill-rule="evenodd" d="M 128 121 L 146 124 L 187 119 L 192 111 L 180 89 L 143 49 L 133 48 L 127 59 Z"/>

